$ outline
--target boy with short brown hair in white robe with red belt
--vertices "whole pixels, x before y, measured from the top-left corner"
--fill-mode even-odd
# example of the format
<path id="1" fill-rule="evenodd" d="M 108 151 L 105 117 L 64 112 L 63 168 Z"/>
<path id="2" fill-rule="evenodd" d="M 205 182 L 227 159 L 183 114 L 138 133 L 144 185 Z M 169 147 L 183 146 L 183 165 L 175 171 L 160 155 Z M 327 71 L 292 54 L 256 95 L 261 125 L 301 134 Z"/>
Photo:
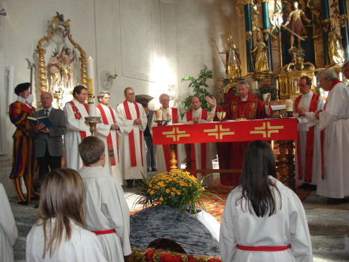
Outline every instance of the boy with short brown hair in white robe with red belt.
<path id="1" fill-rule="evenodd" d="M 130 211 L 124 191 L 115 177 L 105 172 L 105 148 L 95 136 L 84 138 L 79 145 L 83 166 L 79 173 L 86 191 L 87 229 L 102 242 L 109 262 L 124 261 L 132 253 L 130 245 Z"/>

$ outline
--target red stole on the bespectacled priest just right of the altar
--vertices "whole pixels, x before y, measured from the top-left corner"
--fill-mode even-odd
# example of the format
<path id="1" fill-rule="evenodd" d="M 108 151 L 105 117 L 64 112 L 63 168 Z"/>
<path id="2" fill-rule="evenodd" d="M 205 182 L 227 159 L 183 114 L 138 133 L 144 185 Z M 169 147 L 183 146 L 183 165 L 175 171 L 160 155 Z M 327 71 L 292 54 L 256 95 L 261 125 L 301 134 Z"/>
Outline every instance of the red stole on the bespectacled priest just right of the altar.
<path id="1" fill-rule="evenodd" d="M 311 96 L 311 101 L 309 104 L 309 112 L 315 112 L 318 108 L 319 95 L 313 94 Z M 295 100 L 295 110 L 298 110 L 299 101 L 301 101 L 302 96 L 297 96 Z M 313 153 L 314 153 L 314 136 L 315 136 L 315 126 L 309 127 L 309 131 L 306 132 L 306 158 L 305 163 L 306 167 L 304 170 L 304 176 L 302 173 L 302 157 L 301 157 L 301 145 L 299 140 L 299 132 L 298 132 L 298 140 L 297 140 L 297 162 L 298 162 L 298 179 L 302 180 L 304 178 L 304 182 L 311 182 L 311 177 L 313 174 Z"/>

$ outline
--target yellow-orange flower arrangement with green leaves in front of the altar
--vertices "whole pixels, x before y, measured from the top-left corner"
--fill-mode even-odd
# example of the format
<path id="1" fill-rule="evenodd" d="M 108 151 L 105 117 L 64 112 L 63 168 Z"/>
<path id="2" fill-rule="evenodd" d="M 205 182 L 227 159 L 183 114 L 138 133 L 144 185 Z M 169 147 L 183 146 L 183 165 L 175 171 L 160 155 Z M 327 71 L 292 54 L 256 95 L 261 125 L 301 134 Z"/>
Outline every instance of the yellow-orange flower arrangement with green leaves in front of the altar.
<path id="1" fill-rule="evenodd" d="M 187 171 L 178 169 L 156 174 L 151 178 L 143 177 L 137 204 L 142 204 L 143 207 L 165 205 L 177 208 L 183 213 L 189 210 L 189 212 L 197 214 L 196 206 L 205 210 L 205 204 L 200 196 L 213 194 L 205 191 L 205 186 L 201 186 L 203 178 L 205 177 L 197 180 Z"/>

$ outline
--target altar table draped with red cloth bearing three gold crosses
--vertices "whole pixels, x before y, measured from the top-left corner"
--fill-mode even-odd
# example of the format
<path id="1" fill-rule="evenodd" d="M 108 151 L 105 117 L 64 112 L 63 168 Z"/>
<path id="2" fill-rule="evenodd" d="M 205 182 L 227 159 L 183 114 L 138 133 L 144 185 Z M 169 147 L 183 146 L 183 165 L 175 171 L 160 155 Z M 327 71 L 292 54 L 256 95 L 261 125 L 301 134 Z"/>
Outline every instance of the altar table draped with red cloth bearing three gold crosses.
<path id="1" fill-rule="evenodd" d="M 285 186 L 295 190 L 295 161 L 293 140 L 297 140 L 297 119 L 276 118 L 246 121 L 207 122 L 154 126 L 154 145 L 170 145 L 170 169 L 177 168 L 176 144 L 185 144 L 186 170 L 194 173 L 228 173 L 223 169 L 191 169 L 191 143 L 222 143 L 253 140 L 278 140 L 279 175 Z M 287 153 L 286 153 L 287 152 Z M 235 170 L 236 172 L 236 170 Z"/>

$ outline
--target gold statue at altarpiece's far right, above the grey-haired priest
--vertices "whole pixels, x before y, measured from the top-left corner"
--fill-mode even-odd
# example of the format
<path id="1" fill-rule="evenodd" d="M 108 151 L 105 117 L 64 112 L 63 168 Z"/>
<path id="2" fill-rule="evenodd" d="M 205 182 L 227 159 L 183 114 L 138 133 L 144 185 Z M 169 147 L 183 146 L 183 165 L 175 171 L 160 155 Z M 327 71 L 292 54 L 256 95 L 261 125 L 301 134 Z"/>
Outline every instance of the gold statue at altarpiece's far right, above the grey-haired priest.
<path id="1" fill-rule="evenodd" d="M 335 64 L 342 64 L 344 62 L 344 52 L 341 43 L 341 35 L 336 29 L 334 20 L 331 20 L 331 31 L 328 33 L 328 50 L 329 50 L 329 61 L 331 66 Z"/>

